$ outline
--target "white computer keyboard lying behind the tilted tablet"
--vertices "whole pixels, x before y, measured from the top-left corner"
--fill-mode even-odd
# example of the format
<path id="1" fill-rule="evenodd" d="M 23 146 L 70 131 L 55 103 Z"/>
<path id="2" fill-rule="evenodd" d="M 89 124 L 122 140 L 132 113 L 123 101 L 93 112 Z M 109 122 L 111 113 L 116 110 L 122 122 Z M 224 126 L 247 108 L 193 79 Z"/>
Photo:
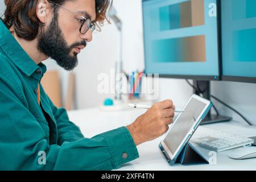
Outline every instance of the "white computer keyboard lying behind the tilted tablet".
<path id="1" fill-rule="evenodd" d="M 200 126 L 193 134 L 190 142 L 199 144 L 209 150 L 221 152 L 236 147 L 250 146 L 254 140 Z"/>

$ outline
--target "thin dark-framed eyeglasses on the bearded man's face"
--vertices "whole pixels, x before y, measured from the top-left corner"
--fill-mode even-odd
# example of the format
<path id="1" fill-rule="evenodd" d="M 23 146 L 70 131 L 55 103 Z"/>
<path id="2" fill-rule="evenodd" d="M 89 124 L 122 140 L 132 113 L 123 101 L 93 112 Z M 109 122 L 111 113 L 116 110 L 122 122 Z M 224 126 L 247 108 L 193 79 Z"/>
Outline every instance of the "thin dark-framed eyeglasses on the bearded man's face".
<path id="1" fill-rule="evenodd" d="M 81 34 L 85 34 L 89 30 L 89 28 L 90 28 L 90 31 L 92 31 L 92 33 L 93 33 L 93 31 L 96 28 L 96 24 L 92 23 L 91 19 L 85 18 L 84 16 L 82 16 L 80 14 L 77 14 L 77 13 L 71 11 L 71 10 L 68 10 L 65 7 L 60 6 L 60 5 L 56 4 L 56 3 L 55 3 L 55 5 L 61 7 L 64 10 L 69 11 L 69 13 L 72 13 L 74 15 L 78 15 L 78 17 L 76 17 L 76 19 L 79 21 L 79 23 L 81 23 L 81 26 L 80 26 L 80 29 L 79 29 Z"/>

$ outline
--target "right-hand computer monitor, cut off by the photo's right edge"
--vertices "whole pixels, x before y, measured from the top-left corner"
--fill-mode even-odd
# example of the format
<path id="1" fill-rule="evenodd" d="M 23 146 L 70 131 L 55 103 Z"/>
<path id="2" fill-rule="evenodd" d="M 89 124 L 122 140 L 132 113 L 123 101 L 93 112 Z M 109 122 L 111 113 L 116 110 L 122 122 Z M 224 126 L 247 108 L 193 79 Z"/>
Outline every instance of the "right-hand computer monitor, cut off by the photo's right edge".
<path id="1" fill-rule="evenodd" d="M 222 80 L 256 83 L 256 1 L 221 1 Z"/>

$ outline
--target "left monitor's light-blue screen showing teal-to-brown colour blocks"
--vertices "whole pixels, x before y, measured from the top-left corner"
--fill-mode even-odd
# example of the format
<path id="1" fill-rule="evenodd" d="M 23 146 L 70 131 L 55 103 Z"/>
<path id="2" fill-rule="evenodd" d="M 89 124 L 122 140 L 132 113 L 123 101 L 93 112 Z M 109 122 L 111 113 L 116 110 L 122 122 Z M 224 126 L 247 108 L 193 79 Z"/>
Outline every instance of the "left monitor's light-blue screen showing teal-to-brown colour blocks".
<path id="1" fill-rule="evenodd" d="M 146 73 L 217 79 L 216 0 L 143 1 Z"/>

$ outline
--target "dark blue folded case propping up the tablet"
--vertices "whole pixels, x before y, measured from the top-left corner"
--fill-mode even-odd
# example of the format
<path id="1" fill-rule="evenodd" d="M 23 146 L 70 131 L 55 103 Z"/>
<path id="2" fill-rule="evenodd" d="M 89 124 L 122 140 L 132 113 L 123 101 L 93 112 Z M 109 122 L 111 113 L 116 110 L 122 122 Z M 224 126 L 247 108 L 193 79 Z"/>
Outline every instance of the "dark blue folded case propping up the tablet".
<path id="1" fill-rule="evenodd" d="M 170 165 L 176 163 L 180 163 L 182 165 L 209 164 L 208 160 L 205 159 L 191 143 L 187 143 L 183 150 L 181 150 L 179 156 L 177 156 L 177 159 L 174 160 L 167 158 L 162 145 L 159 145 L 159 147 Z"/>

